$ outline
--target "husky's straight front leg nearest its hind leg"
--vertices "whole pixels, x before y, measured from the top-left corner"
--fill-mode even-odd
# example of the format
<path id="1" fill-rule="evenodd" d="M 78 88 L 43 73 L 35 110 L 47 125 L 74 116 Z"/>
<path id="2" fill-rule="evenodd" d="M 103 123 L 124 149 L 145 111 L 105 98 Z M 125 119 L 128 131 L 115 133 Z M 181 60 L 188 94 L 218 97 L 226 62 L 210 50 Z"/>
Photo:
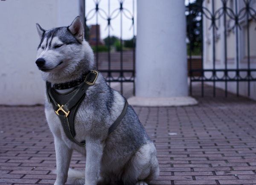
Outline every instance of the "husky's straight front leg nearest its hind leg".
<path id="1" fill-rule="evenodd" d="M 104 143 L 86 140 L 85 185 L 96 185 L 99 178 Z"/>

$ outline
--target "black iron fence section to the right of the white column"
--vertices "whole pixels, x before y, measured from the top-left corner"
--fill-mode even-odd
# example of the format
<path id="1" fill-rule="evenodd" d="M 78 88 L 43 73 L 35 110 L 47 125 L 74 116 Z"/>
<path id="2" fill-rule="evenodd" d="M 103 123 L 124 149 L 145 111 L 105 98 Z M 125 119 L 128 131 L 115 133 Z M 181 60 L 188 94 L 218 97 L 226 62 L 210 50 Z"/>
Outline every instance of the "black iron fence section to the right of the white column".
<path id="1" fill-rule="evenodd" d="M 202 96 L 206 82 L 213 83 L 213 96 L 217 82 L 224 84 L 226 96 L 228 83 L 235 82 L 237 96 L 240 83 L 247 84 L 250 96 L 250 84 L 256 81 L 252 48 L 256 38 L 255 8 L 256 0 L 189 0 L 186 17 L 190 95 L 193 82 L 201 82 Z M 192 67 L 192 55 L 198 50 L 204 61 L 200 69 Z"/>

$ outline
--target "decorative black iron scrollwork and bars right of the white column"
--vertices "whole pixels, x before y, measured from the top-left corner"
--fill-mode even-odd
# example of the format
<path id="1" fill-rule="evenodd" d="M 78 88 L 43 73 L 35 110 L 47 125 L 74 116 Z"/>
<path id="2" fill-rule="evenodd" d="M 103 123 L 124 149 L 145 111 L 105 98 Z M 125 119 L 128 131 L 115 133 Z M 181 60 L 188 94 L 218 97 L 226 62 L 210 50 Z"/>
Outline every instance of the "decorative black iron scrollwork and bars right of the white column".
<path id="1" fill-rule="evenodd" d="M 191 59 L 191 47 L 190 47 L 190 64 L 189 64 L 189 77 L 190 77 L 190 94 L 192 94 L 192 82 L 193 81 L 201 81 L 202 83 L 202 96 L 204 95 L 203 92 L 203 85 L 205 81 L 212 81 L 213 82 L 213 95 L 215 96 L 215 82 L 223 81 L 225 82 L 225 94 L 227 96 L 227 82 L 229 81 L 236 81 L 237 83 L 237 95 L 239 95 L 239 82 L 240 81 L 246 81 L 248 82 L 248 96 L 250 96 L 250 81 L 256 81 L 255 74 L 256 69 L 252 69 L 250 66 L 250 38 L 249 38 L 249 20 L 256 20 L 256 10 L 253 9 L 252 0 L 233 0 L 234 3 L 234 9 L 232 7 L 228 7 L 227 3 L 231 0 L 219 0 L 221 2 L 221 7 L 215 10 L 215 3 L 216 0 L 212 0 L 211 2 L 208 1 L 206 3 L 212 3 L 212 10 L 207 9 L 207 7 L 204 7 L 204 0 L 197 0 L 195 4 L 193 4 L 193 7 L 191 6 L 191 3 L 189 1 L 189 6 L 187 6 L 187 12 L 188 16 L 192 16 L 192 13 L 201 16 L 201 24 L 203 23 L 203 19 L 210 20 L 210 26 L 209 30 L 212 30 L 212 41 L 209 43 L 212 43 L 212 69 L 204 69 L 204 65 L 202 62 L 201 69 L 192 69 L 192 59 Z M 243 6 L 238 9 L 238 3 L 241 4 L 243 2 Z M 236 34 L 236 68 L 230 69 L 227 65 L 227 18 L 233 21 L 233 26 L 229 26 L 229 30 L 235 30 Z M 224 19 L 224 69 L 216 69 L 217 65 L 215 64 L 215 37 L 216 37 L 216 30 L 219 29 L 217 26 L 216 21 Z M 190 19 L 191 20 L 191 19 Z M 191 20 L 192 21 L 192 20 Z M 239 66 L 239 35 L 238 35 L 238 29 L 242 29 L 241 22 L 246 22 L 247 27 L 247 69 L 241 68 Z M 201 32 L 201 34 L 203 34 Z M 188 38 L 190 39 L 191 30 L 188 32 Z M 191 44 L 190 44 L 191 46 Z M 202 48 L 201 48 L 202 49 Z M 203 49 L 202 49 L 202 55 Z M 200 74 L 198 76 L 195 76 L 195 74 Z M 244 75 L 241 75 L 244 74 Z"/>

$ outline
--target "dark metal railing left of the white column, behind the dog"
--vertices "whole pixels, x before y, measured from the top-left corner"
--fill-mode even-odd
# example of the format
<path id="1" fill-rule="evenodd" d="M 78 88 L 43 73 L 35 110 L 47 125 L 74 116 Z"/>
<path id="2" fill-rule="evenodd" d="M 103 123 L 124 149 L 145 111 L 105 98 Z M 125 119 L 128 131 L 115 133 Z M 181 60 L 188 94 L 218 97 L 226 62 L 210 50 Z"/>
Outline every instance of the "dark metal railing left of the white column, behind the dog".
<path id="1" fill-rule="evenodd" d="M 93 1 L 94 6 L 88 7 L 87 1 Z M 116 1 L 119 4 L 119 7 L 111 10 L 111 2 Z M 126 0 L 127 1 L 127 0 Z M 110 84 L 111 82 L 119 82 L 121 84 L 120 92 L 123 92 L 123 83 L 130 82 L 133 83 L 134 92 L 135 92 L 135 32 L 134 32 L 134 0 L 130 0 L 133 3 L 132 10 L 125 7 L 125 0 L 81 0 L 81 14 L 84 14 L 84 23 L 85 23 L 85 39 L 88 38 L 88 29 L 87 23 L 89 20 L 96 18 L 96 49 L 95 49 L 95 62 L 96 69 L 99 70 L 104 76 L 106 81 Z M 104 8 L 102 8 L 102 3 L 104 4 Z M 106 8 L 106 3 L 107 8 Z M 89 11 L 85 11 L 84 7 L 88 7 Z M 107 10 L 106 10 L 107 9 Z M 84 12 L 83 12 L 84 11 Z M 133 32 L 133 47 L 132 47 L 132 69 L 126 69 L 124 66 L 124 47 L 123 47 L 123 18 L 126 18 L 131 21 L 131 32 Z M 106 27 L 105 31 L 108 32 L 108 64 L 105 69 L 99 69 L 99 18 L 105 21 L 105 25 L 101 25 L 102 27 Z M 111 59 L 111 29 L 115 27 L 112 25 L 112 21 L 119 18 L 120 19 L 120 59 L 119 59 L 119 69 L 113 69 L 112 67 L 112 59 Z M 115 29 L 115 28 L 114 28 Z"/>

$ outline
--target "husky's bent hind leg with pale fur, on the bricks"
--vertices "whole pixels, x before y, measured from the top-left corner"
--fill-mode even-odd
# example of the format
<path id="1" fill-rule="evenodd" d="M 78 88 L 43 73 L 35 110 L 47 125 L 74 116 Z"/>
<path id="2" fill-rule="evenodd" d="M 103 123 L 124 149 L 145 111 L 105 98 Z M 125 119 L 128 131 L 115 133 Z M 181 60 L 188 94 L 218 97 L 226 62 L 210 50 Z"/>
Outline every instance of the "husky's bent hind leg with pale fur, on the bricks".
<path id="1" fill-rule="evenodd" d="M 147 185 L 157 179 L 159 166 L 152 142 L 142 145 L 129 162 L 122 179 L 125 184 Z"/>

